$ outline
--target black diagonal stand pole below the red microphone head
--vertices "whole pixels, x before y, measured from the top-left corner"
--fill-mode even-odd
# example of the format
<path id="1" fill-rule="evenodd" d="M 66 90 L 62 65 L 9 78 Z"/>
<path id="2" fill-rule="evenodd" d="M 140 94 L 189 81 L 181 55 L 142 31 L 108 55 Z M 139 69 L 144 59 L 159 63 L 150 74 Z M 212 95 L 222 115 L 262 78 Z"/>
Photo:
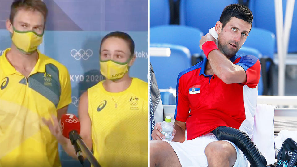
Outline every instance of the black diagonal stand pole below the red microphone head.
<path id="1" fill-rule="evenodd" d="M 87 159 L 90 161 L 90 163 L 94 167 L 101 167 L 99 162 L 95 159 L 92 152 L 88 149 L 88 147 L 86 146 L 86 144 L 84 143 L 84 141 L 81 139 L 80 135 L 76 131 L 71 131 L 69 133 L 69 139 L 70 139 L 71 143 L 74 145 L 74 147 L 75 147 L 75 145 L 78 144 L 78 148 L 81 148 L 81 150 L 86 154 Z M 81 152 L 80 149 L 75 150 L 75 151 Z"/>

